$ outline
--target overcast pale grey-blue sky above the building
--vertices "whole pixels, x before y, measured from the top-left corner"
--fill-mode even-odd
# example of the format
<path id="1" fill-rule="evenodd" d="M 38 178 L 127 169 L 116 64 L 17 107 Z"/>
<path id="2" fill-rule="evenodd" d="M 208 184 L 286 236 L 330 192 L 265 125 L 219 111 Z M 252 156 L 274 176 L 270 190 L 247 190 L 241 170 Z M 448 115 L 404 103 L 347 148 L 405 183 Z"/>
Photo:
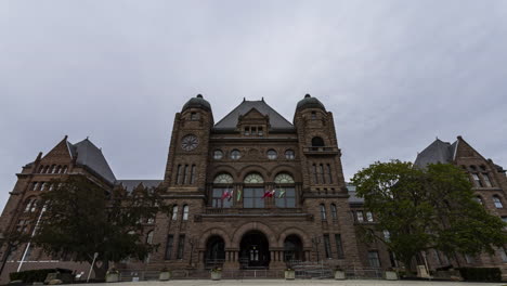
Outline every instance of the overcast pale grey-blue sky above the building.
<path id="1" fill-rule="evenodd" d="M 65 134 L 118 179 L 161 179 L 197 93 L 216 121 L 262 96 L 291 121 L 311 93 L 346 178 L 435 136 L 507 167 L 507 1 L 1 1 L 0 205 Z"/>

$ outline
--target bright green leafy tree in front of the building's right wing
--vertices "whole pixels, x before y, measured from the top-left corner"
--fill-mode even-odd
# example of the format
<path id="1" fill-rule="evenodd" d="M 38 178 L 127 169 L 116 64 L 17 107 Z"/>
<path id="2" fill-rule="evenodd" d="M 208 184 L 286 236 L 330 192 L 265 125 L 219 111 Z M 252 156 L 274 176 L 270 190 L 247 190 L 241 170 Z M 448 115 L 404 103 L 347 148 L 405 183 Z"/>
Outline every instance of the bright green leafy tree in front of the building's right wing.
<path id="1" fill-rule="evenodd" d="M 376 217 L 373 229 L 362 227 L 363 237 L 386 244 L 405 266 L 428 249 L 450 257 L 493 253 L 507 243 L 506 224 L 474 200 L 466 173 L 453 165 L 375 162 L 351 181 Z"/>

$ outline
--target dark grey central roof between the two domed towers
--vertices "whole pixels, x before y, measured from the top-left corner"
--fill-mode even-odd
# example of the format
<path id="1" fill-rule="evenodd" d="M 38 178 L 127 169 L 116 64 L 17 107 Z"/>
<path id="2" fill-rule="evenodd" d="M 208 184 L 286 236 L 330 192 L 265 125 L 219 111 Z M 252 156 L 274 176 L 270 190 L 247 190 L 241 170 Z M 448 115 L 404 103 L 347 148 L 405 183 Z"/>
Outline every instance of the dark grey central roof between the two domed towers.
<path id="1" fill-rule="evenodd" d="M 262 115 L 270 117 L 271 130 L 294 129 L 292 123 L 280 115 L 275 109 L 271 108 L 263 100 L 262 101 L 243 101 L 236 108 L 230 112 L 225 117 L 214 125 L 214 129 L 235 129 L 240 115 L 247 114 L 252 108 L 257 109 Z"/>

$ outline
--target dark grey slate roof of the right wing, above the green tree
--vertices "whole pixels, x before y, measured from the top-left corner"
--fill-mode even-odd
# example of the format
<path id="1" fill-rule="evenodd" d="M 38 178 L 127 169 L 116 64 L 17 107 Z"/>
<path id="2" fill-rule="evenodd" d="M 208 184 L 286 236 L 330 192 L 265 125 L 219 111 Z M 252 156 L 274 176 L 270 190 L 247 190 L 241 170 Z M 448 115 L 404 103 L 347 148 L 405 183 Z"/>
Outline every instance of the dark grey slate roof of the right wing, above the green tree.
<path id="1" fill-rule="evenodd" d="M 424 168 L 429 164 L 452 162 L 456 147 L 457 141 L 451 144 L 448 142 L 443 142 L 440 139 L 437 139 L 421 153 L 417 154 L 414 166 Z"/>

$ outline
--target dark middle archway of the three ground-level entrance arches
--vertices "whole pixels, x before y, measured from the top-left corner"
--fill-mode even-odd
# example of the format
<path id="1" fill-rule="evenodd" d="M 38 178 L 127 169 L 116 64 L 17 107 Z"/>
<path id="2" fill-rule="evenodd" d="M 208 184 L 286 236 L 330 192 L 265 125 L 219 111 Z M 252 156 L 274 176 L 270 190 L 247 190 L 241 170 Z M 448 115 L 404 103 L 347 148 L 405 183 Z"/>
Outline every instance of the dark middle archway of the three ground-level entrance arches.
<path id="1" fill-rule="evenodd" d="M 266 269 L 270 265 L 270 246 L 263 233 L 250 231 L 243 235 L 239 263 L 242 269 Z"/>

